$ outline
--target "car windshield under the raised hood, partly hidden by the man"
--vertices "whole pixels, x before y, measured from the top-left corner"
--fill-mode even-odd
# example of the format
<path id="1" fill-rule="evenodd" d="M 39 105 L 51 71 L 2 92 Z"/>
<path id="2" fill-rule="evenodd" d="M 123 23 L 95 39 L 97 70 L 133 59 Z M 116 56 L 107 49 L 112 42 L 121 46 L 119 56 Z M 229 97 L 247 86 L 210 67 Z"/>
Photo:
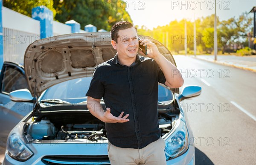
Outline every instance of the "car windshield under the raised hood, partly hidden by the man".
<path id="1" fill-rule="evenodd" d="M 90 87 L 91 77 L 76 78 L 69 81 L 64 81 L 60 84 L 56 84 L 44 93 L 41 100 L 56 100 L 67 101 L 72 104 L 81 103 L 87 101 L 87 90 Z M 167 88 L 158 85 L 158 101 L 172 100 L 173 95 Z"/>

